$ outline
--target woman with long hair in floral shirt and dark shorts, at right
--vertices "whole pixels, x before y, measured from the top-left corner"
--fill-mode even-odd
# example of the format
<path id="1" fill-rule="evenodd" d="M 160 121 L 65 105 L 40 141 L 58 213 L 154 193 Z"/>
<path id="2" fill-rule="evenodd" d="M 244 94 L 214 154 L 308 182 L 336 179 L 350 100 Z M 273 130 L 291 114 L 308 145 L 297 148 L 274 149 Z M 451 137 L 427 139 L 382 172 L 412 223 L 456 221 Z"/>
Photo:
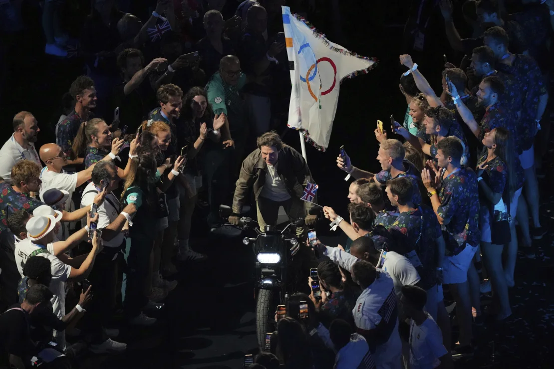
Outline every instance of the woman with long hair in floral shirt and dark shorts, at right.
<path id="1" fill-rule="evenodd" d="M 499 313 L 496 316 L 497 320 L 503 320 L 511 315 L 508 287 L 502 268 L 504 245 L 493 243 L 493 238 L 497 238 L 499 235 L 493 234 L 494 231 L 491 228 L 491 224 L 497 218 L 509 219 L 507 206 L 511 204 L 507 202 L 512 202 L 511 199 L 517 190 L 517 174 L 513 164 L 514 149 L 510 140 L 509 131 L 502 127 L 485 133 L 482 140 L 485 152 L 479 158 L 478 167 L 475 170 L 479 181 L 481 204 L 479 219 L 481 251 L 491 287 L 500 305 Z M 479 306 L 475 306 L 475 302 L 473 304 L 479 315 Z"/>

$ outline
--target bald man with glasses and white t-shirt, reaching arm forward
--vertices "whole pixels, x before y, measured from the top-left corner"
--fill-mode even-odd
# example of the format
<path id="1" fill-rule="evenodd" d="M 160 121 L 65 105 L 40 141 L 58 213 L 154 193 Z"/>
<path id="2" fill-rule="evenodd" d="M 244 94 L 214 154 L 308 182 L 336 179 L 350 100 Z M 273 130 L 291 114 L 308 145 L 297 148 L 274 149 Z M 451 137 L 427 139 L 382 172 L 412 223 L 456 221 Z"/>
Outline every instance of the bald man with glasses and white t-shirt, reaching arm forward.
<path id="1" fill-rule="evenodd" d="M 65 209 L 71 211 L 73 192 L 90 179 L 95 164 L 77 173 L 65 173 L 63 167 L 68 164 L 68 156 L 55 143 L 47 143 L 40 147 L 40 160 L 46 164 L 46 168 L 40 172 L 40 180 L 42 180 L 40 192 L 44 193 L 50 188 L 68 191 L 69 198 L 65 203 Z M 102 160 L 111 160 L 110 155 L 106 155 Z"/>

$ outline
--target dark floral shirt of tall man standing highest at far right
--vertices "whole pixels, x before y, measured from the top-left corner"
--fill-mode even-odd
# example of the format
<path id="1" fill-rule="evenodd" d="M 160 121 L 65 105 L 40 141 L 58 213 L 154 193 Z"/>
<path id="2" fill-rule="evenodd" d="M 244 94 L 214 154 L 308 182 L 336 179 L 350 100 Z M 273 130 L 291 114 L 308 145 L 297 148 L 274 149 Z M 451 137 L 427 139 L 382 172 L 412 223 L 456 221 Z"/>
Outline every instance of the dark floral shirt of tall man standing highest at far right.
<path id="1" fill-rule="evenodd" d="M 498 63 L 497 68 L 519 82 L 523 94 L 521 105 L 521 119 L 517 124 L 517 142 L 522 150 L 529 150 L 537 134 L 538 99 L 545 95 L 546 85 L 541 70 L 531 56 L 516 55 L 512 65 Z"/>

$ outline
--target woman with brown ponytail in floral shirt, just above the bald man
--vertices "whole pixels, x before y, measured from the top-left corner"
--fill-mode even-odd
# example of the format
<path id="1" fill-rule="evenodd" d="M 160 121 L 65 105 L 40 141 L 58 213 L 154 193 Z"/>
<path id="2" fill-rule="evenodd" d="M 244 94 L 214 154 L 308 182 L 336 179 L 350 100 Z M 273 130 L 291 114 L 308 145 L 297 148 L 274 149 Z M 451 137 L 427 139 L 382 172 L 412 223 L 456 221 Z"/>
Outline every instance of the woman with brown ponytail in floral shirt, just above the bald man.
<path id="1" fill-rule="evenodd" d="M 115 159 L 124 143 L 122 139 L 112 138 L 110 128 L 104 119 L 93 118 L 81 123 L 72 148 L 75 155 L 84 153 L 83 163 L 86 169 L 94 163 L 100 162 L 106 155 L 112 154 L 114 155 L 112 159 Z M 117 175 L 119 178 L 125 179 L 123 169 L 117 168 Z"/>

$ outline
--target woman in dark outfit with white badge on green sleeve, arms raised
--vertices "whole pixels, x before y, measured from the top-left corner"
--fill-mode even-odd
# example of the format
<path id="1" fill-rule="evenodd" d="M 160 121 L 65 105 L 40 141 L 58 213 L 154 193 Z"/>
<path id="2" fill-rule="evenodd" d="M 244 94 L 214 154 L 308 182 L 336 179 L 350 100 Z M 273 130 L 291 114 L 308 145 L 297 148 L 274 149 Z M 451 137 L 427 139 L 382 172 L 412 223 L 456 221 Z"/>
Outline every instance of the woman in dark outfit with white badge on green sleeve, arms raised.
<path id="1" fill-rule="evenodd" d="M 160 181 L 164 172 L 171 167 L 166 160 L 160 167 L 156 164 L 157 149 L 138 145 L 139 135 L 130 145 L 130 170 L 121 200 L 125 204 L 135 204 L 137 212 L 129 222 L 130 245 L 127 243 L 127 277 L 125 283 L 124 311 L 130 324 L 152 325 L 156 319 L 149 318 L 141 309 L 148 303 L 146 285 L 150 270 L 151 252 L 157 235 L 157 225 L 153 219 L 159 217 L 159 196 L 157 189 L 164 191 L 173 179 L 181 174 L 184 158 L 177 157 L 170 173 Z M 129 221 L 129 220 L 128 220 Z"/>

